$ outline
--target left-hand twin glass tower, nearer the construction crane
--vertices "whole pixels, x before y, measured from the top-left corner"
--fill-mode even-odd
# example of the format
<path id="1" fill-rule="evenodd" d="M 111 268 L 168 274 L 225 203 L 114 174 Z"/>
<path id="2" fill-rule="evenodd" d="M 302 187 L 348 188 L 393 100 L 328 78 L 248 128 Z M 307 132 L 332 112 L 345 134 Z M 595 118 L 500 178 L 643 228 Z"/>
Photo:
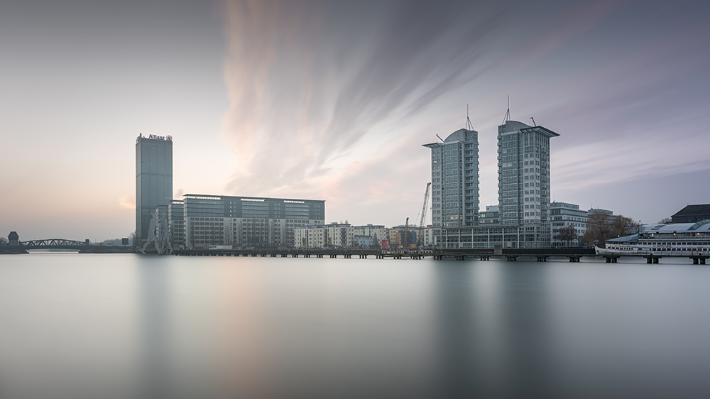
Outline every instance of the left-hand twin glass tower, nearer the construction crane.
<path id="1" fill-rule="evenodd" d="M 478 225 L 478 135 L 472 128 L 459 129 L 442 142 L 424 144 L 431 149 L 435 240 L 441 241 L 444 229 L 449 227 Z"/>

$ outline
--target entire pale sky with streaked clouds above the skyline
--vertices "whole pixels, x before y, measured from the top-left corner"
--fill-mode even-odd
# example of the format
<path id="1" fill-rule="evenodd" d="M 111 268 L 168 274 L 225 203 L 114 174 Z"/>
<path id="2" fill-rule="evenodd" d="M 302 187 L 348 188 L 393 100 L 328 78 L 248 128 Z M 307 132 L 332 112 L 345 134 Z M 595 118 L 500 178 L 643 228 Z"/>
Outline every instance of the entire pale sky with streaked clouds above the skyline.
<path id="1" fill-rule="evenodd" d="M 0 234 L 128 236 L 135 138 L 173 136 L 174 197 L 326 200 L 418 221 L 437 134 L 550 143 L 552 198 L 644 223 L 710 202 L 706 1 L 0 0 Z"/>

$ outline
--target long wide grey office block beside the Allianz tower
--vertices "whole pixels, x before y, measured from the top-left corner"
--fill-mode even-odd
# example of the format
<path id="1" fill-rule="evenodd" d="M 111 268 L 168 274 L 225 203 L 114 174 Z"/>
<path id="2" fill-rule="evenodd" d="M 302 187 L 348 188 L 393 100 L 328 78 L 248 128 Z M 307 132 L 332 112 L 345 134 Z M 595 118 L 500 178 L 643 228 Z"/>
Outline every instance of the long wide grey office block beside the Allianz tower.
<path id="1" fill-rule="evenodd" d="M 294 230 L 321 225 L 325 201 L 187 194 L 185 246 L 293 248 Z"/>

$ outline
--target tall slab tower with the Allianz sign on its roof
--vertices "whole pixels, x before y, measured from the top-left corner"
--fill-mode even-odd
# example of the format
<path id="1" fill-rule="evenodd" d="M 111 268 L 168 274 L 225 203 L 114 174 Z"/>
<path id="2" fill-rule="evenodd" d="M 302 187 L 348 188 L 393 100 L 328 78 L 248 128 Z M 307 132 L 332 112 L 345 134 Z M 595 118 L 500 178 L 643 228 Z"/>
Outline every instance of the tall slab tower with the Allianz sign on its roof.
<path id="1" fill-rule="evenodd" d="M 173 200 L 173 138 L 136 138 L 136 241 L 138 248 L 148 238 L 148 226 L 158 209 L 168 214 Z"/>

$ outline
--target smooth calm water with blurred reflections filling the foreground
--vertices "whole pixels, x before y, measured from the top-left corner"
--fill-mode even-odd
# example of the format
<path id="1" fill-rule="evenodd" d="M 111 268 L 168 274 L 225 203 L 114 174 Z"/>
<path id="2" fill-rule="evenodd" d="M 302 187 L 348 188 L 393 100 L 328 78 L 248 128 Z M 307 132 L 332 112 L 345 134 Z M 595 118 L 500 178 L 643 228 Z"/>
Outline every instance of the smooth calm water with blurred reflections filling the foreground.
<path id="1" fill-rule="evenodd" d="M 710 266 L 622 262 L 4 255 L 0 398 L 709 398 Z"/>

